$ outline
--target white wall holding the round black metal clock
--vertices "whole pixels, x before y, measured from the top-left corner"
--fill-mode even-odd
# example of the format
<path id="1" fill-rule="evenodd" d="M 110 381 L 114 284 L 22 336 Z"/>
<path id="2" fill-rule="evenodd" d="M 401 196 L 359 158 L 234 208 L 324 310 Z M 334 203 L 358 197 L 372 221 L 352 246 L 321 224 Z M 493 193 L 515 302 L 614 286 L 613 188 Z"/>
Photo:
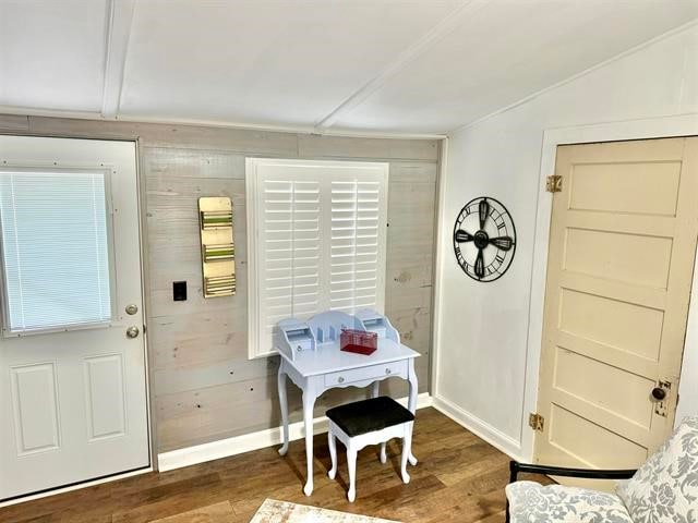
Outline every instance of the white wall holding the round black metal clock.
<path id="1" fill-rule="evenodd" d="M 441 203 L 436 405 L 505 451 L 530 458 L 524 397 L 527 379 L 537 379 L 526 376 L 526 366 L 543 133 L 697 112 L 693 25 L 449 137 Z M 450 242 L 461 206 L 480 195 L 504 203 L 518 233 L 512 268 L 493 283 L 464 275 Z M 694 330 L 681 391 L 684 414 L 689 405 L 698 410 L 698 325 Z"/>

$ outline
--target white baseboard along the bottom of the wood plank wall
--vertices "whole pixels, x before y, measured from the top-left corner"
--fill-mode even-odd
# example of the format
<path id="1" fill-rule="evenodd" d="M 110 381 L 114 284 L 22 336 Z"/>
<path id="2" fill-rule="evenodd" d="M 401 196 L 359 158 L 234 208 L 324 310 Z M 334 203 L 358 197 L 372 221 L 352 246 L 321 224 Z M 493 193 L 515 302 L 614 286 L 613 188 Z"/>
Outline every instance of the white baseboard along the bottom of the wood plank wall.
<path id="1" fill-rule="evenodd" d="M 407 405 L 407 398 L 398 400 Z M 417 398 L 417 409 L 432 406 L 432 397 L 423 392 Z M 297 422 L 289 425 L 289 439 L 294 441 L 304 437 L 303 423 Z M 313 434 L 327 431 L 327 418 L 325 416 L 313 419 Z M 196 445 L 184 449 L 171 450 L 157 455 L 158 471 L 166 472 L 182 466 L 195 465 L 206 461 L 218 460 L 229 455 L 241 454 L 251 450 L 263 449 L 281 445 L 281 427 L 267 428 L 257 433 L 243 434 L 232 438 L 220 439 L 209 443 Z"/>

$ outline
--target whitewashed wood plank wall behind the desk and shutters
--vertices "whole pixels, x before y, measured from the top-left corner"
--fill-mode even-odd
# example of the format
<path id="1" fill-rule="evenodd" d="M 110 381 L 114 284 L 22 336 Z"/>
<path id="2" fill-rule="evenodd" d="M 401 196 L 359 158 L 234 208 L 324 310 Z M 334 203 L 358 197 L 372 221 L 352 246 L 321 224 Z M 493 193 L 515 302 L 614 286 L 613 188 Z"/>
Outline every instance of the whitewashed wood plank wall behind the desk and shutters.
<path id="1" fill-rule="evenodd" d="M 389 161 L 386 313 L 422 354 L 419 388 L 429 390 L 438 142 L 15 115 L 0 115 L 0 132 L 139 138 L 158 452 L 279 425 L 278 356 L 248 360 L 245 156 Z M 200 196 L 216 195 L 233 200 L 238 292 L 204 300 L 196 205 Z M 172 301 L 179 280 L 189 283 L 185 302 Z M 291 421 L 300 421 L 300 394 L 288 388 Z M 388 388 L 395 397 L 407 393 L 399 380 Z M 364 394 L 330 391 L 316 415 Z"/>

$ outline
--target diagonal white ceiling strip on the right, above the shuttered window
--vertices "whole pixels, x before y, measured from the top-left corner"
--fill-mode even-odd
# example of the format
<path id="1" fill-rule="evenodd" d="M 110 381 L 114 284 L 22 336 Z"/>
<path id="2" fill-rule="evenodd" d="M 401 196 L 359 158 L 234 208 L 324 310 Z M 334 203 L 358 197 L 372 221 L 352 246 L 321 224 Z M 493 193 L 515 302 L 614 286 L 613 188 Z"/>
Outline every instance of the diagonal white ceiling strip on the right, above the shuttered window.
<path id="1" fill-rule="evenodd" d="M 486 2 L 465 0 L 464 3 L 450 11 L 438 24 L 432 27 L 429 33 L 398 54 L 397 58 L 388 63 L 376 76 L 359 87 L 349 98 L 320 120 L 315 124 L 316 132 L 322 133 L 333 126 L 342 115 L 349 113 L 354 107 L 359 106 L 373 93 L 383 87 L 390 77 L 395 76 L 409 63 L 421 57 L 430 47 L 456 29 L 466 14 L 472 14 L 474 11 L 484 7 L 484 4 L 486 4 Z"/>

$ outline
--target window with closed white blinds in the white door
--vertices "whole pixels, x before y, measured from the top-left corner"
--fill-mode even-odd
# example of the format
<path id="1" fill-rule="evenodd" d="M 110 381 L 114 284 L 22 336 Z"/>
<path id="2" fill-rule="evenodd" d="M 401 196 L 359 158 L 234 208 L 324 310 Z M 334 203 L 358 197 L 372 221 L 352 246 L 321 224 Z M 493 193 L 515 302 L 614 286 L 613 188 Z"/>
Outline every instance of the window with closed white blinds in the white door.
<path id="1" fill-rule="evenodd" d="M 108 178 L 1 169 L 2 330 L 65 330 L 111 320 Z"/>

